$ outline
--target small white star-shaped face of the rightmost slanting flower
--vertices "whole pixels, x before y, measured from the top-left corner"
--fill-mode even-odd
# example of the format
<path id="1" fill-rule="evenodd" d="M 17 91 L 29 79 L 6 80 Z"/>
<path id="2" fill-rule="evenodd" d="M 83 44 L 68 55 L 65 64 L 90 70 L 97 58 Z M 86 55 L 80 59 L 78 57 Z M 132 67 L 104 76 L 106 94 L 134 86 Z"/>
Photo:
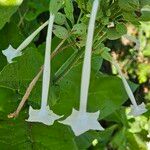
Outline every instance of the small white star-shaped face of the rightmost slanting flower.
<path id="1" fill-rule="evenodd" d="M 141 103 L 140 105 L 131 105 L 131 111 L 129 115 L 132 115 L 134 117 L 139 116 L 143 113 L 145 113 L 147 109 L 145 108 L 145 104 Z"/>

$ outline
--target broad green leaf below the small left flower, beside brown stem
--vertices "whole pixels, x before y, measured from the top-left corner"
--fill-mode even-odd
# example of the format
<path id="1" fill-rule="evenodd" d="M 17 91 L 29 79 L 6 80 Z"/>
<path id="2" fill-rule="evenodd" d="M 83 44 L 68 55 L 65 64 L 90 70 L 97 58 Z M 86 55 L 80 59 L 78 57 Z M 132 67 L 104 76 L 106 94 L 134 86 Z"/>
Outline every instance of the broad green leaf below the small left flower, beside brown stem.
<path id="1" fill-rule="evenodd" d="M 27 48 L 27 52 L 16 58 L 19 63 L 8 64 L 0 72 L 0 86 L 19 90 L 26 87 L 33 77 L 38 73 L 43 58 L 34 48 Z"/>

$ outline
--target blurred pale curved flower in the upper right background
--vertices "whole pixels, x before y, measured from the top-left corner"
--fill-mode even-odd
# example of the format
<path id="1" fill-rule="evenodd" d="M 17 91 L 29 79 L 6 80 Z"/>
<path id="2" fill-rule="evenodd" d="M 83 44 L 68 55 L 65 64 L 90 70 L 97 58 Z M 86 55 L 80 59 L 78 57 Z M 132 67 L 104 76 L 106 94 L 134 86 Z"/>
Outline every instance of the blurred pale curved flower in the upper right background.
<path id="1" fill-rule="evenodd" d="M 135 46 L 134 46 L 134 49 L 135 50 L 140 50 L 140 41 L 138 39 L 136 39 L 135 37 L 131 36 L 131 35 L 128 35 L 128 34 L 125 34 L 122 36 L 123 38 L 126 38 L 132 42 L 135 43 Z"/>

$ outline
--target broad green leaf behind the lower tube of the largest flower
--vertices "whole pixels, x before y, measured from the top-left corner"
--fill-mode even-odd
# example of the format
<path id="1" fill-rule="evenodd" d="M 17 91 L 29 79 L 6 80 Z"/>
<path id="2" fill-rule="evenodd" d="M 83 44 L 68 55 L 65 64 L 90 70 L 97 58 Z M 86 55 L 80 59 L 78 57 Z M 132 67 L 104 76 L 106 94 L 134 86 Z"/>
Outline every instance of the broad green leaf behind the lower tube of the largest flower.
<path id="1" fill-rule="evenodd" d="M 56 113 L 68 116 L 72 108 L 78 109 L 81 68 L 81 64 L 76 65 L 58 83 L 60 86 L 60 102 L 52 107 Z M 121 79 L 92 71 L 88 100 L 89 112 L 100 110 L 100 118 L 104 118 L 118 109 L 126 100 L 127 94 Z"/>

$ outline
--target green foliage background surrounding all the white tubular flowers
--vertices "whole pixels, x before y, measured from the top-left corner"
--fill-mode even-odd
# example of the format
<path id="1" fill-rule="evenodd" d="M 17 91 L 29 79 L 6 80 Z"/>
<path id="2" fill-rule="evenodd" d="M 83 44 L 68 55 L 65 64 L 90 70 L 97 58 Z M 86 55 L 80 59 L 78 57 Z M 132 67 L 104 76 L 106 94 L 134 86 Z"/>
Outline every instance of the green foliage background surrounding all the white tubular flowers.
<path id="1" fill-rule="evenodd" d="M 88 111 L 100 110 L 105 131 L 88 131 L 75 137 L 69 126 L 55 122 L 53 126 L 29 123 L 28 107 L 40 107 L 41 78 L 26 106 L 15 119 L 8 119 L 21 101 L 29 83 L 44 60 L 46 29 L 44 29 L 15 63 L 7 64 L 0 52 L 0 149 L 2 150 L 147 150 L 150 143 L 150 111 L 133 118 L 127 115 L 130 101 L 116 71 L 103 59 L 103 52 L 115 52 L 118 63 L 131 81 L 138 103 L 150 108 L 150 2 L 149 0 L 101 0 L 93 43 L 92 75 Z M 72 108 L 78 109 L 80 78 L 89 13 L 92 0 L 64 0 L 55 18 L 53 45 L 67 38 L 65 50 L 52 60 L 49 94 L 51 109 L 66 118 Z M 141 10 L 141 8 L 145 8 Z M 49 0 L 0 0 L 0 51 L 11 44 L 17 48 L 49 17 Z M 114 22 L 113 28 L 108 25 Z M 133 43 L 123 46 L 121 36 L 133 24 L 140 39 L 141 51 L 132 50 Z M 70 45 L 70 46 L 68 46 Z M 107 48 L 107 47 L 109 48 Z M 141 60 L 142 59 L 142 60 Z M 130 60 L 132 60 L 130 62 Z M 139 61 L 140 60 L 140 61 Z M 130 63 L 128 63 L 128 61 Z M 144 90 L 146 89 L 146 92 Z M 150 144 L 149 144 L 150 145 Z"/>

